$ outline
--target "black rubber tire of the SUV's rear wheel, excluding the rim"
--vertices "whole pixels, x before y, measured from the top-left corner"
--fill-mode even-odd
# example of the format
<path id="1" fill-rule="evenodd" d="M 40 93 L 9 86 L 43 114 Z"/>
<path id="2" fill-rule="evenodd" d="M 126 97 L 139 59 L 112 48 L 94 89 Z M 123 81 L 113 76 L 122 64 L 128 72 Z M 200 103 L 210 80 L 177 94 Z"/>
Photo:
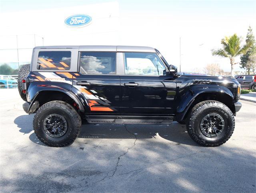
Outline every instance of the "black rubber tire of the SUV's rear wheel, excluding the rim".
<path id="1" fill-rule="evenodd" d="M 66 119 L 68 129 L 66 133 L 58 138 L 46 134 L 43 122 L 50 114 L 59 114 Z M 34 132 L 38 139 L 51 147 L 64 147 L 72 144 L 81 130 L 81 117 L 76 110 L 68 103 L 54 100 L 42 105 L 36 112 L 33 120 Z"/>

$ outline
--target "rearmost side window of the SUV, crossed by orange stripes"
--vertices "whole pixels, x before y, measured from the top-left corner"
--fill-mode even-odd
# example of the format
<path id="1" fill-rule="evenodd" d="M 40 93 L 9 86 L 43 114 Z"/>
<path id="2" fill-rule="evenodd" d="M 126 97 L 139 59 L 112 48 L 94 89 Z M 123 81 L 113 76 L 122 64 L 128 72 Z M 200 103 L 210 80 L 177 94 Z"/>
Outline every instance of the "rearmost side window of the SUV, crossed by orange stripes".
<path id="1" fill-rule="evenodd" d="M 69 70 L 71 51 L 40 51 L 36 69 L 38 70 Z"/>

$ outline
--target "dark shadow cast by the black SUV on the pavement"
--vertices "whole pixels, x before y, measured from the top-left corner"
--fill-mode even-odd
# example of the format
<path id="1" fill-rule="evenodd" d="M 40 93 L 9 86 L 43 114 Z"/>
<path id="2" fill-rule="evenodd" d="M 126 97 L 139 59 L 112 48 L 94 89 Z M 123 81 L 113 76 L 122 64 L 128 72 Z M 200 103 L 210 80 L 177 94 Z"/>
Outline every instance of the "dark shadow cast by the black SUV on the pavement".
<path id="1" fill-rule="evenodd" d="M 34 114 L 22 115 L 15 118 L 14 123 L 20 128 L 19 132 L 29 134 L 33 131 Z M 150 139 L 160 136 L 177 145 L 186 144 L 198 146 L 186 131 L 186 125 L 173 122 L 170 125 L 134 125 L 134 124 L 84 124 L 78 138 L 100 138 L 100 139 Z M 29 136 L 36 144 L 41 143 L 34 132 Z"/>

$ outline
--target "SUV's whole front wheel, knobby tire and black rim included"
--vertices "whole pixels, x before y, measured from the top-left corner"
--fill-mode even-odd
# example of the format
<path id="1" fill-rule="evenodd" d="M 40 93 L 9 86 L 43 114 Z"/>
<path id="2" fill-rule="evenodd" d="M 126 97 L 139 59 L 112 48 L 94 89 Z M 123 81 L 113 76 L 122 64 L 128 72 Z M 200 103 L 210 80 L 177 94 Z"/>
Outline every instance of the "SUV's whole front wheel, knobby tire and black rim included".
<path id="1" fill-rule="evenodd" d="M 192 108 L 186 126 L 188 134 L 196 143 L 215 147 L 224 144 L 232 136 L 235 120 L 225 104 L 206 100 Z"/>

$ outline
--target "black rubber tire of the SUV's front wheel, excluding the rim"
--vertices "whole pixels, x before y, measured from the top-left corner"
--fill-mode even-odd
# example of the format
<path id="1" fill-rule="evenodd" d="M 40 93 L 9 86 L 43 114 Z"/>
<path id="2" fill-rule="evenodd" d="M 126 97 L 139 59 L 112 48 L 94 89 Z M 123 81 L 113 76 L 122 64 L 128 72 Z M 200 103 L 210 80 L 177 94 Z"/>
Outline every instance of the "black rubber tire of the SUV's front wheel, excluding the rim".
<path id="1" fill-rule="evenodd" d="M 224 119 L 223 132 L 214 138 L 205 136 L 200 130 L 200 122 L 208 113 L 217 113 Z M 235 119 L 232 111 L 223 103 L 215 100 L 206 100 L 196 104 L 188 116 L 186 124 L 189 136 L 201 146 L 215 147 L 224 144 L 232 136 L 235 128 Z"/>

